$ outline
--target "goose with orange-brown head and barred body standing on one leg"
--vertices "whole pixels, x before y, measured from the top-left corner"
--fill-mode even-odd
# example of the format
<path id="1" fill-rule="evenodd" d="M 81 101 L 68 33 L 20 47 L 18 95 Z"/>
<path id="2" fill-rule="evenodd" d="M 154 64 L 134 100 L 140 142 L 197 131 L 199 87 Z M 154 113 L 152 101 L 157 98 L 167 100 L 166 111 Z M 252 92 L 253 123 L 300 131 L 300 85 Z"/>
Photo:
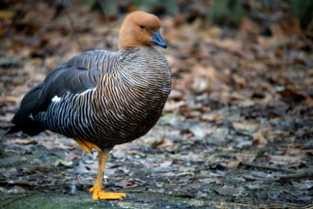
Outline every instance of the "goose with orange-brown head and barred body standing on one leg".
<path id="1" fill-rule="evenodd" d="M 171 69 L 157 46 L 167 48 L 153 14 L 126 15 L 117 52 L 94 49 L 73 56 L 24 95 L 7 134 L 35 136 L 50 130 L 74 139 L 88 153 L 98 150 L 92 199 L 122 200 L 105 192 L 109 151 L 144 136 L 155 125 L 171 91 Z"/>

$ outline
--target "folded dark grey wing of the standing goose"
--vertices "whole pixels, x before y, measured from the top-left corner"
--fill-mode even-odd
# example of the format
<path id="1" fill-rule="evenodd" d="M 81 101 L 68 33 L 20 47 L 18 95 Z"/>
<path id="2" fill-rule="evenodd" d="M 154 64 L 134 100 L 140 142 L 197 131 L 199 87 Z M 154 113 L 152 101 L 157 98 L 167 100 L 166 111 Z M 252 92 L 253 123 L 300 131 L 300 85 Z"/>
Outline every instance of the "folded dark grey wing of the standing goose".
<path id="1" fill-rule="evenodd" d="M 49 72 L 42 84 L 26 93 L 12 123 L 24 123 L 31 114 L 47 110 L 55 96 L 61 98 L 66 93 L 77 94 L 96 88 L 100 75 L 110 70 L 107 62 L 112 56 L 112 52 L 93 50 L 73 56 L 67 63 L 59 65 Z"/>

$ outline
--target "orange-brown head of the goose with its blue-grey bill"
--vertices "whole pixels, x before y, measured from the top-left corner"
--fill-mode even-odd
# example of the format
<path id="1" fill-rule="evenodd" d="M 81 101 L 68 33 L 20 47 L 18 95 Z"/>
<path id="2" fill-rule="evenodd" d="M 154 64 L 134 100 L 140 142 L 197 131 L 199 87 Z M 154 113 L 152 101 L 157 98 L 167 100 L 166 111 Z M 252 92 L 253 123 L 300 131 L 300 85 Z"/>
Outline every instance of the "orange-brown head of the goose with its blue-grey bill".
<path id="1" fill-rule="evenodd" d="M 155 15 L 145 12 L 130 13 L 119 32 L 119 49 L 159 45 L 167 47 L 160 35 L 161 22 Z"/>

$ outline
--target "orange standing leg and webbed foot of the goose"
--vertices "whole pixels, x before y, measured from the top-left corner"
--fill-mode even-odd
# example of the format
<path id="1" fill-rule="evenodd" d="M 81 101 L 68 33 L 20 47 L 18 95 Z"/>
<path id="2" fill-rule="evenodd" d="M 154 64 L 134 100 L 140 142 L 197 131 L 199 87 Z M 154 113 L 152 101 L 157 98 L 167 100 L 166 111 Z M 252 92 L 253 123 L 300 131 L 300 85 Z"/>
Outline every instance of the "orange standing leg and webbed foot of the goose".
<path id="1" fill-rule="evenodd" d="M 105 173 L 105 164 L 107 163 L 107 158 L 109 157 L 109 151 L 99 151 L 98 153 L 98 174 L 97 179 L 93 187 L 89 189 L 90 192 L 93 192 L 93 199 L 119 199 L 122 200 L 126 196 L 125 193 L 114 193 L 114 192 L 105 192 L 102 190 L 102 180 L 103 173 Z"/>

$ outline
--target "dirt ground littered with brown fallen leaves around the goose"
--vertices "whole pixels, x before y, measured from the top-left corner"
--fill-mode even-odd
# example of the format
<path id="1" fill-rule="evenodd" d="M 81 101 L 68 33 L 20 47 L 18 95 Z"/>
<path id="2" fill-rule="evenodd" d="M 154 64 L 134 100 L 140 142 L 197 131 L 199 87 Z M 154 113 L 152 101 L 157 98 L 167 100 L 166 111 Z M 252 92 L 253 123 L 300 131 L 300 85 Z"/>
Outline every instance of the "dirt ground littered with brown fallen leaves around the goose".
<path id="1" fill-rule="evenodd" d="M 0 208 L 313 208 L 313 47 L 298 24 L 261 36 L 249 19 L 229 29 L 163 16 L 171 95 L 146 136 L 110 153 L 105 189 L 128 196 L 92 201 L 96 152 L 52 132 L 5 133 L 47 72 L 86 50 L 116 51 L 123 15 L 82 6 L 56 15 L 48 3 L 8 11 L 0 14 Z"/>

